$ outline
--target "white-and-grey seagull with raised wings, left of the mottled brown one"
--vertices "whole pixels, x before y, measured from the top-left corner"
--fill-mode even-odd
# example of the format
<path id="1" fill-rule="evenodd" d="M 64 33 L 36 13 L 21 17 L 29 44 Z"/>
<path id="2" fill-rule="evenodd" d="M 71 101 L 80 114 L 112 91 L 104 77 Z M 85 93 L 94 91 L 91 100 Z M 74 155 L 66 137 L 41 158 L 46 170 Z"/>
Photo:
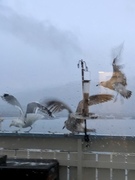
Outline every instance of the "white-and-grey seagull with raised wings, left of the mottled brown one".
<path id="1" fill-rule="evenodd" d="M 15 127 L 20 128 L 20 129 L 30 127 L 30 129 L 27 131 L 27 132 L 30 132 L 32 129 L 33 123 L 36 120 L 43 119 L 45 117 L 43 114 L 37 113 L 38 110 L 43 112 L 44 114 L 52 116 L 51 112 L 45 106 L 43 106 L 42 104 L 40 104 L 38 102 L 28 103 L 27 108 L 26 108 L 26 112 L 24 112 L 21 104 L 13 95 L 4 94 L 3 96 L 1 96 L 1 98 L 4 101 L 6 101 L 7 103 L 18 108 L 20 111 L 20 117 L 13 119 L 11 124 L 9 125 L 10 127 L 15 126 Z"/>

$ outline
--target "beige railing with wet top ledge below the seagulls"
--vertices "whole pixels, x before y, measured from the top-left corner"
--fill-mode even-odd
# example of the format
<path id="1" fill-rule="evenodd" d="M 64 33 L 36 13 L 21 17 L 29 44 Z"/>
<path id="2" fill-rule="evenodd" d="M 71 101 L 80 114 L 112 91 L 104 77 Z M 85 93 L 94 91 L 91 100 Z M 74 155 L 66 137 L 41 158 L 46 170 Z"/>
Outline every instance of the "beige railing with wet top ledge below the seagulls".
<path id="1" fill-rule="evenodd" d="M 0 154 L 57 159 L 60 180 L 133 180 L 135 137 L 1 133 Z"/>

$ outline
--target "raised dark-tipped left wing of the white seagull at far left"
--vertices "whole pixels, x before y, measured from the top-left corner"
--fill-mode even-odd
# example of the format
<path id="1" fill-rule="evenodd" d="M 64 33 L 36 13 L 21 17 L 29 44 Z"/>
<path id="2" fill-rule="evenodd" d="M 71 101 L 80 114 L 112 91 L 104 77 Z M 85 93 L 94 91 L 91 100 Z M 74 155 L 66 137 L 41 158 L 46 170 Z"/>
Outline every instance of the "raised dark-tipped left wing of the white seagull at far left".
<path id="1" fill-rule="evenodd" d="M 4 101 L 6 101 L 7 103 L 17 107 L 20 110 L 21 115 L 24 115 L 23 108 L 22 108 L 21 104 L 13 95 L 4 94 L 3 96 L 1 96 L 1 98 Z"/>

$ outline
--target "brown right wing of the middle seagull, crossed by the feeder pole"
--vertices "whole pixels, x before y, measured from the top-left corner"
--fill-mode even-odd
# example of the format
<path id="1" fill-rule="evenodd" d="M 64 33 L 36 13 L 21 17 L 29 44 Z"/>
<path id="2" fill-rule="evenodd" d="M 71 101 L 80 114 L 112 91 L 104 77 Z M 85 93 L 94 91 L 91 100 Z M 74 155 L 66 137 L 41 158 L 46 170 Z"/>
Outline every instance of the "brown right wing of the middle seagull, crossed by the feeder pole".
<path id="1" fill-rule="evenodd" d="M 88 105 L 92 106 L 92 105 L 95 105 L 95 104 L 104 103 L 104 102 L 107 102 L 107 101 L 111 101 L 113 98 L 114 98 L 114 96 L 111 95 L 111 94 L 92 95 L 92 96 L 89 97 Z M 77 113 L 82 113 L 82 110 L 83 110 L 83 100 L 81 100 L 78 103 L 76 112 Z"/>

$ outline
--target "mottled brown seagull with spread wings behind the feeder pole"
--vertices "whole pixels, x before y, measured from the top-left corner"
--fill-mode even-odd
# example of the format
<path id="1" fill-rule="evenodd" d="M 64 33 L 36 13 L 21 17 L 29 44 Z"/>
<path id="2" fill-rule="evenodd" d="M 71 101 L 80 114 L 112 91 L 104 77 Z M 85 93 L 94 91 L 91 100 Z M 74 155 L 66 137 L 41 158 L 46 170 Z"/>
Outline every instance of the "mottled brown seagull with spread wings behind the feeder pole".
<path id="1" fill-rule="evenodd" d="M 89 97 L 88 105 L 91 106 L 94 104 L 104 103 L 112 100 L 113 97 L 114 96 L 111 94 L 92 95 Z M 78 103 L 78 106 L 76 108 L 76 113 L 74 113 L 67 104 L 65 104 L 63 101 L 58 99 L 48 99 L 45 100 L 44 103 L 47 109 L 51 111 L 51 113 L 53 114 L 61 112 L 62 110 L 68 111 L 68 119 L 64 122 L 63 129 L 66 128 L 67 130 L 71 131 L 72 134 L 76 134 L 76 133 L 79 134 L 85 132 L 84 119 L 79 117 L 79 115 L 81 115 L 83 111 L 83 100 L 81 100 Z M 90 113 L 91 118 L 94 118 L 93 115 L 94 113 Z M 86 132 L 96 132 L 96 130 L 86 129 Z"/>

